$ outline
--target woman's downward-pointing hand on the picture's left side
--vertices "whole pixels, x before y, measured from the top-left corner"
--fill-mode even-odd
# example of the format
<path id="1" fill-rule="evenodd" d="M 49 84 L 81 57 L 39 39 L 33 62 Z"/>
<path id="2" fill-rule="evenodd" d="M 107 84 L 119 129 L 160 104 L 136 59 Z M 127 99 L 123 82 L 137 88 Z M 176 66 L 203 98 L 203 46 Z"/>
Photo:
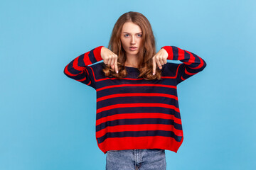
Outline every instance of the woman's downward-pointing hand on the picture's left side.
<path id="1" fill-rule="evenodd" d="M 112 69 L 115 69 L 116 73 L 118 73 L 118 67 L 117 67 L 117 55 L 114 54 L 110 49 L 106 47 L 102 47 L 100 51 L 100 55 L 103 59 L 103 62 L 107 65 L 110 65 Z"/>

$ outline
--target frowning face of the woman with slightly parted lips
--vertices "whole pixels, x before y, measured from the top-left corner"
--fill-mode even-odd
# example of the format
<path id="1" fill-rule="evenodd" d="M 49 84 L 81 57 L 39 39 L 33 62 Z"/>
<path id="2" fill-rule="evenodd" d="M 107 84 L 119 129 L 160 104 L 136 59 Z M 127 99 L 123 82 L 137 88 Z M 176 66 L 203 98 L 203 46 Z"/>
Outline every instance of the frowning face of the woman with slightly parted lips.
<path id="1" fill-rule="evenodd" d="M 137 55 L 139 52 L 140 43 L 142 41 L 141 28 L 132 22 L 124 23 L 121 33 L 122 47 L 127 55 Z M 137 48 L 131 48 L 137 47 Z"/>

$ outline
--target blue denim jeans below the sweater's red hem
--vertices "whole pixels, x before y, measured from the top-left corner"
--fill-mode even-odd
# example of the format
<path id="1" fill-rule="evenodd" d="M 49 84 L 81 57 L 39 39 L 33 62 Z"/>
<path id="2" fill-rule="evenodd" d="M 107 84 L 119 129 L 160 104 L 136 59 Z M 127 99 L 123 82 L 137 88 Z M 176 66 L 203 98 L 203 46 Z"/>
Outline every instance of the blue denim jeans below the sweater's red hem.
<path id="1" fill-rule="evenodd" d="M 106 170 L 166 170 L 165 149 L 107 151 Z"/>

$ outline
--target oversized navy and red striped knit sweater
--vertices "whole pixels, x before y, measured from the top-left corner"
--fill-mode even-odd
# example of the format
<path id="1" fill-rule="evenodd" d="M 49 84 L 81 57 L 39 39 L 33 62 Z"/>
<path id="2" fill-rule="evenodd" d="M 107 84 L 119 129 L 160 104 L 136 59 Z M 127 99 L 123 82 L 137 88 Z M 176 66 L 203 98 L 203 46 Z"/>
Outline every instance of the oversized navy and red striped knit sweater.
<path id="1" fill-rule="evenodd" d="M 168 52 L 167 60 L 182 63 L 164 64 L 161 80 L 137 79 L 139 69 L 134 67 L 125 67 L 128 76 L 116 79 L 102 72 L 102 47 L 76 57 L 64 69 L 67 77 L 97 92 L 98 147 L 104 154 L 123 149 L 167 149 L 177 153 L 183 142 L 177 85 L 201 72 L 206 62 L 192 52 L 164 46 L 161 48 Z"/>

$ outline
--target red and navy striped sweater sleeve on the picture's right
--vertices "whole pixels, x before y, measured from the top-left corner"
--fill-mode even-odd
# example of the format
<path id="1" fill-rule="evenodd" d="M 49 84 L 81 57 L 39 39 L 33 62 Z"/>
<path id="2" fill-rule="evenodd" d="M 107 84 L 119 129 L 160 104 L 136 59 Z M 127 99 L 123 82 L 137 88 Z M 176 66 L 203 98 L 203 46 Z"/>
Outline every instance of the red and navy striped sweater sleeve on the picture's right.
<path id="1" fill-rule="evenodd" d="M 178 64 L 176 70 L 176 82 L 177 84 L 182 81 L 192 77 L 198 72 L 203 71 L 206 67 L 206 61 L 204 61 L 198 55 L 193 54 L 192 52 L 188 52 L 186 50 L 182 50 L 181 48 L 175 46 L 164 46 L 161 47 L 166 50 L 168 53 L 167 60 L 180 60 L 181 64 Z"/>

